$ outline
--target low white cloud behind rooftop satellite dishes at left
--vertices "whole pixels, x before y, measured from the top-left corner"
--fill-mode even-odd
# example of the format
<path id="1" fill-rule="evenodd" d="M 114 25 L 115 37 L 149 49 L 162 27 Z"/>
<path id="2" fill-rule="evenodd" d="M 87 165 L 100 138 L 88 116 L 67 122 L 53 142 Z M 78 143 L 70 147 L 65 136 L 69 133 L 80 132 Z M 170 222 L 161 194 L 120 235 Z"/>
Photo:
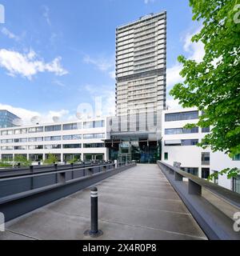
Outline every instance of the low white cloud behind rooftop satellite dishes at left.
<path id="1" fill-rule="evenodd" d="M 59 119 L 66 120 L 68 119 L 69 110 L 59 110 L 53 111 L 50 110 L 46 113 L 40 113 L 38 111 L 26 110 L 21 107 L 10 106 L 0 103 L 0 110 L 8 110 L 13 114 L 18 115 L 19 118 L 22 118 L 22 125 L 31 124 L 31 118 L 38 117 L 39 123 L 51 123 L 53 122 L 54 117 Z"/>

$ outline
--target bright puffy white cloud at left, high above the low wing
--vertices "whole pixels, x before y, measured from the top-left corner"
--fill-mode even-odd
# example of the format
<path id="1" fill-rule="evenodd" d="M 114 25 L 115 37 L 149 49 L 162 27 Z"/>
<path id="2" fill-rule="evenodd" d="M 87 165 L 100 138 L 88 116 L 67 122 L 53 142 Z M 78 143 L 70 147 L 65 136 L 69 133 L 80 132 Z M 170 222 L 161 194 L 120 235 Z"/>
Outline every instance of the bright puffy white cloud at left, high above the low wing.
<path id="1" fill-rule="evenodd" d="M 61 66 L 61 59 L 57 57 L 52 62 L 44 62 L 38 58 L 34 50 L 30 50 L 28 54 L 21 54 L 14 50 L 0 49 L 0 66 L 11 76 L 20 74 L 28 79 L 42 72 L 50 72 L 58 76 L 68 74 L 68 71 Z"/>

